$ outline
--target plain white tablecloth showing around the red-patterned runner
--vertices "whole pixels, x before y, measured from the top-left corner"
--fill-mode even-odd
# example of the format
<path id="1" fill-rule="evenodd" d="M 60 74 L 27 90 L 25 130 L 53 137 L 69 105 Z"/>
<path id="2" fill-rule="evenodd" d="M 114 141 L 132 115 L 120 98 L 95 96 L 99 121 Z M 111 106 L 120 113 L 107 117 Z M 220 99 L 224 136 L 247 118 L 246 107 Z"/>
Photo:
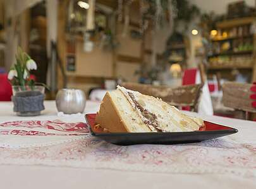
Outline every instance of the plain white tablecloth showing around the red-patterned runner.
<path id="1" fill-rule="evenodd" d="M 13 105 L 11 102 L 0 102 L 0 123 L 13 120 L 85 121 L 83 114 L 58 116 L 54 101 L 45 101 L 45 106 L 46 110 L 39 117 L 16 117 L 12 111 Z M 99 103 L 87 101 L 85 113 L 95 113 L 98 108 Z M 197 113 L 186 113 L 197 115 Z M 223 141 L 232 140 L 234 144 L 240 146 L 256 144 L 255 122 L 207 115 L 200 115 L 200 117 L 239 130 L 238 134 L 231 135 L 231 137 L 222 137 Z M 13 137 L 16 137 L 13 142 L 18 142 L 18 136 Z M 8 138 L 4 140 L 8 142 Z M 43 140 L 55 141 L 60 139 L 58 137 L 45 137 Z M 43 140 L 40 140 L 40 142 L 43 142 Z M 252 151 L 254 150 L 255 156 L 251 157 L 253 162 L 256 158 L 256 149 L 252 149 Z M 245 160 L 241 163 L 248 163 Z M 21 166 L 12 163 L 0 165 L 0 181 L 1 188 L 256 188 L 255 176 L 220 173 L 183 174 L 118 171 L 111 168 L 90 169 L 80 166 L 76 166 L 76 168 L 39 165 Z"/>

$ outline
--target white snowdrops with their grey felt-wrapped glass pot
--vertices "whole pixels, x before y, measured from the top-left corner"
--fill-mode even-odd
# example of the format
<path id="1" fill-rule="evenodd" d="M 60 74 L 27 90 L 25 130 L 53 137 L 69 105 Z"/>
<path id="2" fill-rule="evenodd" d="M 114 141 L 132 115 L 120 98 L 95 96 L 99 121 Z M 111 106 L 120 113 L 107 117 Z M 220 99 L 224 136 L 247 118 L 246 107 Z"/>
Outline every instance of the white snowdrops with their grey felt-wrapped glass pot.
<path id="1" fill-rule="evenodd" d="M 30 56 L 18 48 L 16 62 L 8 73 L 13 88 L 13 111 L 20 116 L 40 115 L 44 110 L 45 85 L 35 83 L 30 71 L 36 70 L 37 64 Z"/>

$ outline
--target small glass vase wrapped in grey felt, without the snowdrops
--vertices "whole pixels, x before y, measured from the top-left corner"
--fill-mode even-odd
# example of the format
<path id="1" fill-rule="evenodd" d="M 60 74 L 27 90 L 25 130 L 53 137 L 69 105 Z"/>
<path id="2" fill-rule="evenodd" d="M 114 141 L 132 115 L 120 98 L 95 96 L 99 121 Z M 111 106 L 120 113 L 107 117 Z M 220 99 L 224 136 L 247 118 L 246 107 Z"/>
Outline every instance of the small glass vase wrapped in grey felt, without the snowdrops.
<path id="1" fill-rule="evenodd" d="M 44 110 L 44 86 L 12 86 L 13 111 L 18 116 L 36 116 Z"/>

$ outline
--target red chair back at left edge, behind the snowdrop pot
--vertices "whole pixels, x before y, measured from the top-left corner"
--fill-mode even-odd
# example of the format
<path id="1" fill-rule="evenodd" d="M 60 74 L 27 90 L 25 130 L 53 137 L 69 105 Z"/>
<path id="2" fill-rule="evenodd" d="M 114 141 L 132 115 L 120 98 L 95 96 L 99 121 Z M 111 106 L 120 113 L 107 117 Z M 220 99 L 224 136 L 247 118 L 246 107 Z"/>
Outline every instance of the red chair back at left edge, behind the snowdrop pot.
<path id="1" fill-rule="evenodd" d="M 0 101 L 11 101 L 11 95 L 13 95 L 7 76 L 6 73 L 0 74 Z"/>

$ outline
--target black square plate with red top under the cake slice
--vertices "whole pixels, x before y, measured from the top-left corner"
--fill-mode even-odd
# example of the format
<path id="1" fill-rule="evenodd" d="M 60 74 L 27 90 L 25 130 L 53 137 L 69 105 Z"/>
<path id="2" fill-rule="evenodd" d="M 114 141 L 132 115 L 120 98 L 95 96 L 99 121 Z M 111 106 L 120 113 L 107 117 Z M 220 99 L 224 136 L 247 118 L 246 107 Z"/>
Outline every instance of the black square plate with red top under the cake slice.
<path id="1" fill-rule="evenodd" d="M 133 145 L 133 144 L 182 144 L 192 142 L 202 142 L 204 140 L 216 139 L 226 135 L 235 134 L 237 129 L 218 125 L 204 121 L 204 130 L 192 132 L 105 132 L 100 127 L 95 128 L 96 114 L 86 114 L 88 126 L 92 135 L 99 137 L 107 142 L 118 145 Z"/>

